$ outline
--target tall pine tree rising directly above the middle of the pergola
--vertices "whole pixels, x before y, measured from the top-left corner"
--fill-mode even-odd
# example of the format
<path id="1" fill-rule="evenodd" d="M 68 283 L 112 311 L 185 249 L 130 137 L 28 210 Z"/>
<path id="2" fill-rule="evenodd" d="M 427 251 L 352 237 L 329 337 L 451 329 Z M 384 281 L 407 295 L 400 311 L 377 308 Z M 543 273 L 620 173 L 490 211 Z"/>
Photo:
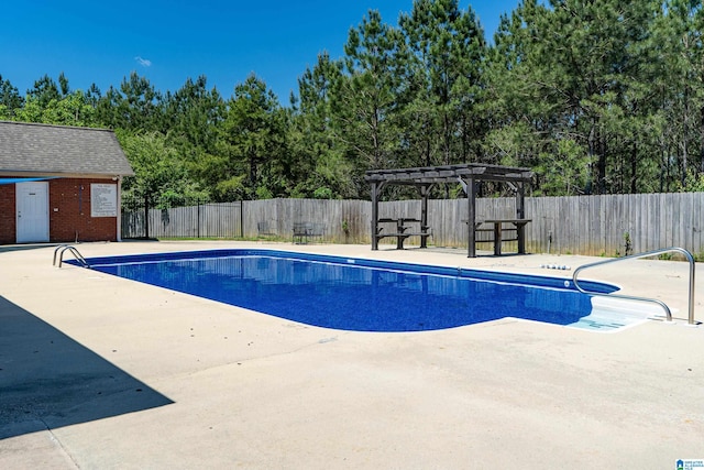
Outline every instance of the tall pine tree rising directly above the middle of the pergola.
<path id="1" fill-rule="evenodd" d="M 460 10 L 457 0 L 417 0 L 399 23 L 409 51 L 406 122 L 418 162 L 466 162 L 470 153 L 476 159 L 471 144 L 481 139 L 475 107 L 485 43 L 473 10 Z"/>

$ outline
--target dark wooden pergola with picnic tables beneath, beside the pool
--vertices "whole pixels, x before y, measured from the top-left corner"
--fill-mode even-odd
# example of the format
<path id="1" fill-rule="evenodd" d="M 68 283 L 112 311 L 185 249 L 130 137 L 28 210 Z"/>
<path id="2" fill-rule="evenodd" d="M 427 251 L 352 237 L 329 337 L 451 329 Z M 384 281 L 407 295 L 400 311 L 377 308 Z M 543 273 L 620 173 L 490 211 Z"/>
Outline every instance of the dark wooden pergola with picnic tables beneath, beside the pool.
<path id="1" fill-rule="evenodd" d="M 438 183 L 460 183 L 468 197 L 468 256 L 476 256 L 476 232 L 484 222 L 494 225 L 494 252 L 501 254 L 501 232 L 503 223 L 513 223 L 517 232 L 518 252 L 525 252 L 525 226 L 530 220 L 525 216 L 526 185 L 530 184 L 534 173 L 528 168 L 465 163 L 459 165 L 426 166 L 419 168 L 373 170 L 366 172 L 365 179 L 372 186 L 372 250 L 378 249 L 378 240 L 384 237 L 396 237 L 397 248 L 408 237 L 420 237 L 420 248 L 427 247 L 430 237 L 428 227 L 428 196 Z M 504 220 L 476 220 L 476 192 L 480 182 L 506 183 L 516 193 L 516 218 Z M 389 185 L 414 186 L 420 193 L 419 219 L 380 219 L 378 200 L 384 187 Z M 380 223 L 396 223 L 395 232 L 384 232 Z M 408 231 L 407 222 L 417 222 L 420 230 Z"/>

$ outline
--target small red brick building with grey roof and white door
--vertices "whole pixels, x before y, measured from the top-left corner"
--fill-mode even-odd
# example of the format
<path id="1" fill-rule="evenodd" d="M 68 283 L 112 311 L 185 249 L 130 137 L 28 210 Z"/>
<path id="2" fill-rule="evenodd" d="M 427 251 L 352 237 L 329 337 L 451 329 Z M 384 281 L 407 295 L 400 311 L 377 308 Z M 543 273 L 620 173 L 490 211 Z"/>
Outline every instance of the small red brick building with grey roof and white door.
<path id="1" fill-rule="evenodd" d="M 112 131 L 0 121 L 0 244 L 119 241 L 133 174 Z"/>

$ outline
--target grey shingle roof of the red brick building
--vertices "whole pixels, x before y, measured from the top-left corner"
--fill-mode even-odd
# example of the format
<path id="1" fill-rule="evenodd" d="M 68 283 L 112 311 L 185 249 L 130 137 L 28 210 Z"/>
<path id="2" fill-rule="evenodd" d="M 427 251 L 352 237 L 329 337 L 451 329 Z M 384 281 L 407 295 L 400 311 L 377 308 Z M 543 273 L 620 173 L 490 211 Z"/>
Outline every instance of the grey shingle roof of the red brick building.
<path id="1" fill-rule="evenodd" d="M 0 174 L 125 176 L 134 172 L 112 131 L 0 121 Z"/>

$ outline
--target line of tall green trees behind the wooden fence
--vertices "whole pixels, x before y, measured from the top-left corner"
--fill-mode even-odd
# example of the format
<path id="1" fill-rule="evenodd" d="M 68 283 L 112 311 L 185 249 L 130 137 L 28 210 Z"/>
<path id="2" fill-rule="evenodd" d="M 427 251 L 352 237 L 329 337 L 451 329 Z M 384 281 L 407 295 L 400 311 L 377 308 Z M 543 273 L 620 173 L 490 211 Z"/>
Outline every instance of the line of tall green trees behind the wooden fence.
<path id="1" fill-rule="evenodd" d="M 256 75 L 229 98 L 206 76 L 25 96 L 0 76 L 0 119 L 114 129 L 151 205 L 366 198 L 367 170 L 453 163 L 530 167 L 534 195 L 702 190 L 702 31 L 700 0 L 524 0 L 487 43 L 471 7 L 415 0 L 369 11 L 287 106 Z"/>

